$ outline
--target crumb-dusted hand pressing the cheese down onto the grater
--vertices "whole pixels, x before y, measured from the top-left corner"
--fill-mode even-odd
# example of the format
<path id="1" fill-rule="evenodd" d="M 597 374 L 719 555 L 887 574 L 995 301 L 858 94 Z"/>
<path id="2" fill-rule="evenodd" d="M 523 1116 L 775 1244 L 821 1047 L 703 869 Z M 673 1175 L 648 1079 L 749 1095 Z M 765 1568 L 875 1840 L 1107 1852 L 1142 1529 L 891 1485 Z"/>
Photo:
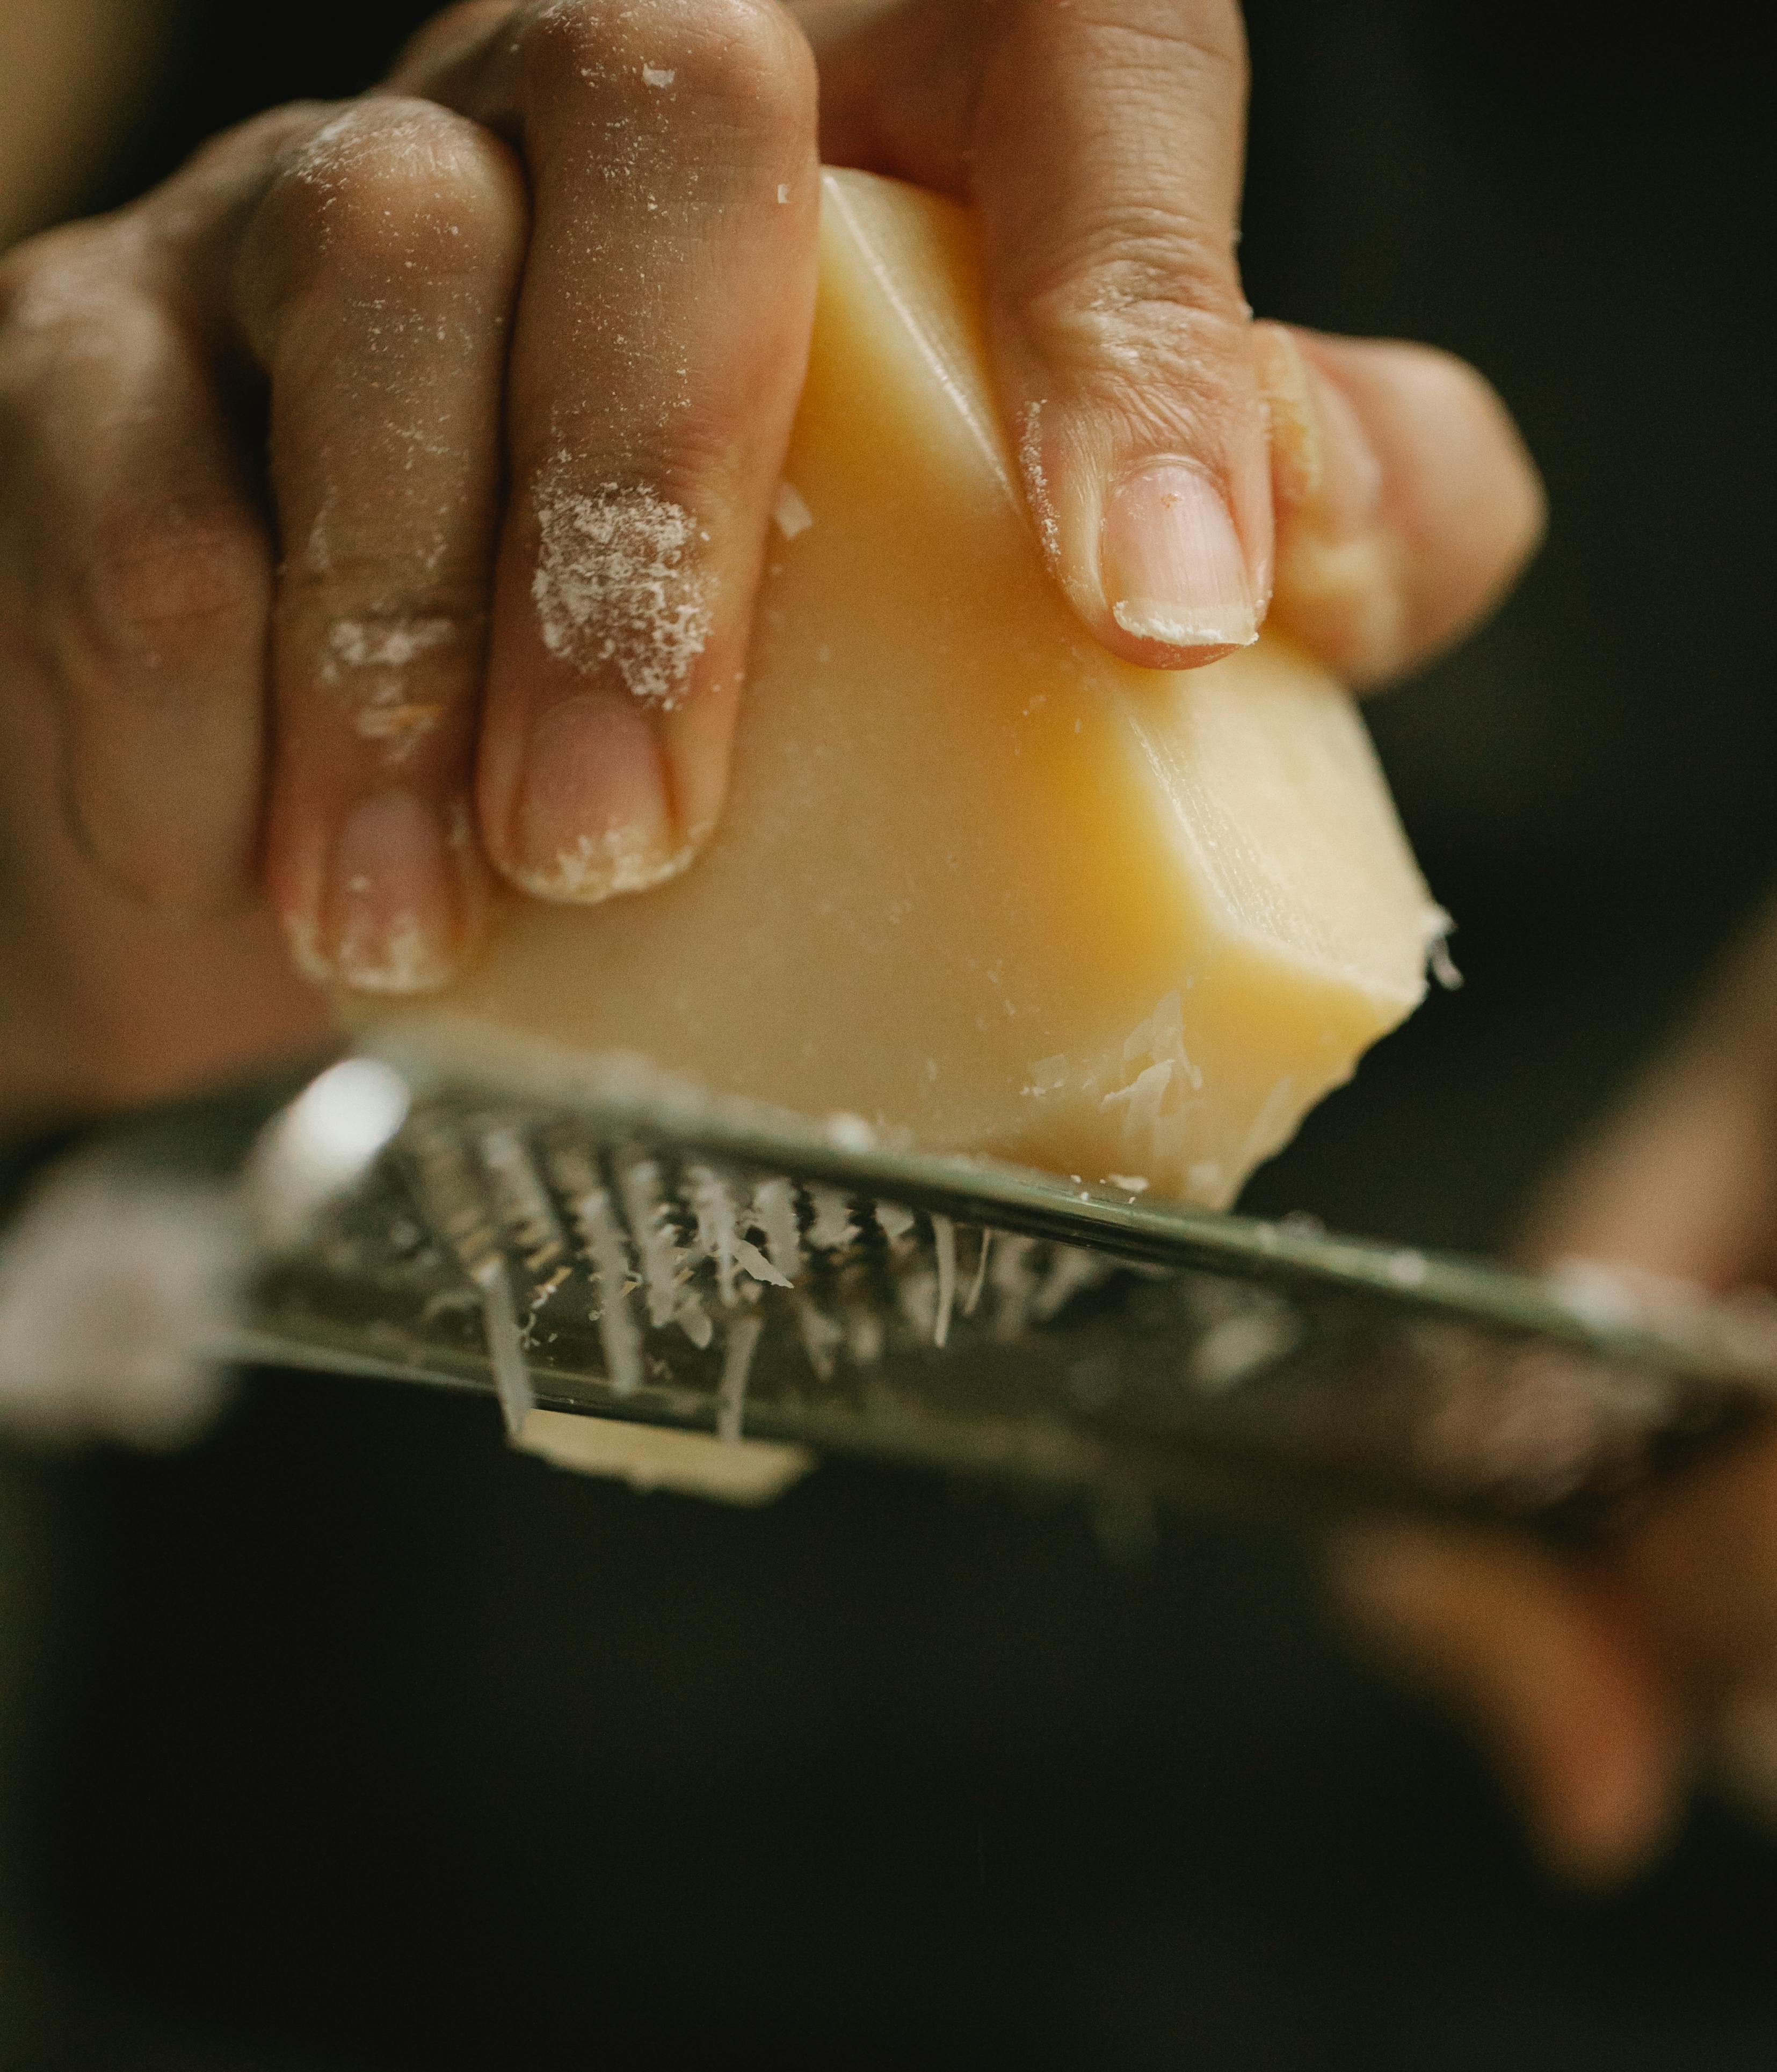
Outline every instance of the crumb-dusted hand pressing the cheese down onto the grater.
<path id="1" fill-rule="evenodd" d="M 472 0 L 387 89 L 6 261 L 6 899 L 64 997 L 226 968 L 209 1061 L 230 1003 L 255 1044 L 315 1005 L 259 920 L 168 959 L 122 893 L 226 916 L 263 881 L 313 978 L 400 992 L 472 953 L 499 883 L 601 899 L 690 860 L 802 379 L 816 141 L 980 209 L 1036 530 L 1106 646 L 1207 661 L 1276 593 L 1373 682 L 1497 597 L 1541 503 L 1485 383 L 1249 323 L 1232 0 L 804 15 Z M 116 1040 L 153 1024 L 178 1077 L 193 1019 Z"/>

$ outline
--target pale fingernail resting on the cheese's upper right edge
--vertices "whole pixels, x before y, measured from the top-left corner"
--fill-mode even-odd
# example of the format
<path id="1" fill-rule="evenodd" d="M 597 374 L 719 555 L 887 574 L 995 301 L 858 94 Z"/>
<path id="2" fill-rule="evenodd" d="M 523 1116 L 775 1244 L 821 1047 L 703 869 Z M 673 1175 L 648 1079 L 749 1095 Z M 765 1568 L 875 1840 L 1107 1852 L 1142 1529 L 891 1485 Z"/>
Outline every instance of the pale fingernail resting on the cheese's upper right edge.
<path id="1" fill-rule="evenodd" d="M 1249 646 L 1259 615 L 1234 520 L 1216 485 L 1183 462 L 1118 483 L 1100 543 L 1110 615 L 1168 646 Z"/>

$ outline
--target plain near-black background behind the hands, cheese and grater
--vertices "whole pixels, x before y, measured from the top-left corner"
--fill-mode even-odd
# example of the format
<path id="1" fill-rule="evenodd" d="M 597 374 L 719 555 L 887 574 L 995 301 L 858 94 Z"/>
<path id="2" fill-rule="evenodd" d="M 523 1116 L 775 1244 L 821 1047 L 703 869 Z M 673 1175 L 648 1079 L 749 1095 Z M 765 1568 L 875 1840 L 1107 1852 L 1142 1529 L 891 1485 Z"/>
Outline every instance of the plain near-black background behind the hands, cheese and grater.
<path id="1" fill-rule="evenodd" d="M 416 12 L 186 6 L 112 193 L 360 85 Z M 1499 622 L 1373 707 L 1468 984 L 1253 1206 L 1502 1243 L 1765 891 L 1746 21 L 1249 8 L 1255 307 L 1479 363 L 1553 508 Z M 855 1469 L 729 1515 L 288 1376 L 180 1459 L 8 1457 L 0 1504 L 37 1606 L 4 2072 L 1777 2064 L 1771 1846 L 1705 1807 L 1562 1896 L 1282 1539 L 1112 1558 Z"/>

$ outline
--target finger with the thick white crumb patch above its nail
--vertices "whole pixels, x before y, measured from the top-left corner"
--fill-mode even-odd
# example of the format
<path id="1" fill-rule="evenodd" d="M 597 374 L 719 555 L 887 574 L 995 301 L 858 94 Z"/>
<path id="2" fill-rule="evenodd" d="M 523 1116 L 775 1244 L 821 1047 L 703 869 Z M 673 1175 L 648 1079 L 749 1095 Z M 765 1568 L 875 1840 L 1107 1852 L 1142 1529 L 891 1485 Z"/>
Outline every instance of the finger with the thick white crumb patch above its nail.
<path id="1" fill-rule="evenodd" d="M 725 789 L 814 307 L 814 66 L 768 0 L 565 0 L 443 48 L 429 91 L 520 143 L 536 218 L 483 839 L 605 899 L 683 868 Z"/>

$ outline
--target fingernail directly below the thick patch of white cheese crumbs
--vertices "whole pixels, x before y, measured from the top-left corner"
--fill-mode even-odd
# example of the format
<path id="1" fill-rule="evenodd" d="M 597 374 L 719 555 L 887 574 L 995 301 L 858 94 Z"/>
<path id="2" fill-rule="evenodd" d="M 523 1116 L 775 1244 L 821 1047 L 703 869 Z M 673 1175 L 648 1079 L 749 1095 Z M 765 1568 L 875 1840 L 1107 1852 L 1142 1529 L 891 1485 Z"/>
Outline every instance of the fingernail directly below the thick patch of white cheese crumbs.
<path id="1" fill-rule="evenodd" d="M 677 876 L 692 850 L 673 829 L 657 721 L 619 692 L 582 692 L 530 733 L 514 876 L 538 899 L 594 903 Z"/>

